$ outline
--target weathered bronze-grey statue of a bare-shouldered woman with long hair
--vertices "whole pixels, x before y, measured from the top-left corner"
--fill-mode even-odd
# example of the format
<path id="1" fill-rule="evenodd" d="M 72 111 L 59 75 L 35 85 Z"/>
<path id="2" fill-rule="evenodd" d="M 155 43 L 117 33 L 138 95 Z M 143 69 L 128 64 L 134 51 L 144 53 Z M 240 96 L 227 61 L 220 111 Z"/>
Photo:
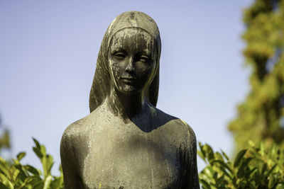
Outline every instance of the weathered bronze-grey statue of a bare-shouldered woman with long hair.
<path id="1" fill-rule="evenodd" d="M 91 113 L 65 130 L 65 188 L 200 188 L 195 133 L 155 108 L 160 34 L 145 13 L 111 22 L 89 96 Z"/>

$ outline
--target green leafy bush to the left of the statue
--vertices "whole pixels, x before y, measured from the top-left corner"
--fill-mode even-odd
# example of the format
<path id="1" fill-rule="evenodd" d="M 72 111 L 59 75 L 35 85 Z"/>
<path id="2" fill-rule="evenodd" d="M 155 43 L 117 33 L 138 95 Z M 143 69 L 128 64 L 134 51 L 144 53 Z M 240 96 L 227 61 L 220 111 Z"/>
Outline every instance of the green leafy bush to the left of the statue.
<path id="1" fill-rule="evenodd" d="M 33 151 L 40 159 L 43 173 L 33 166 L 21 164 L 21 159 L 26 156 L 25 152 L 17 155 L 12 162 L 0 157 L 0 189 L 62 189 L 63 177 L 60 166 L 60 176 L 52 176 L 50 171 L 53 167 L 53 156 L 46 154 L 45 147 L 36 139 Z"/>

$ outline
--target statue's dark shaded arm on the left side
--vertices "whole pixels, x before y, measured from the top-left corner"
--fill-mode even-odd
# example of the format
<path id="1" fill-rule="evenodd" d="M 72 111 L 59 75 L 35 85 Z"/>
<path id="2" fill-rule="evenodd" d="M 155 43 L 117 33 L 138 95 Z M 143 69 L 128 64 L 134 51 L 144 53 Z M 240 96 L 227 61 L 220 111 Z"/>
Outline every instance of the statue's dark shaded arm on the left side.
<path id="1" fill-rule="evenodd" d="M 71 147 L 71 142 L 69 137 L 63 134 L 60 143 L 60 158 L 65 189 L 84 189 L 80 175 L 77 172 L 74 158 L 75 151 Z"/>

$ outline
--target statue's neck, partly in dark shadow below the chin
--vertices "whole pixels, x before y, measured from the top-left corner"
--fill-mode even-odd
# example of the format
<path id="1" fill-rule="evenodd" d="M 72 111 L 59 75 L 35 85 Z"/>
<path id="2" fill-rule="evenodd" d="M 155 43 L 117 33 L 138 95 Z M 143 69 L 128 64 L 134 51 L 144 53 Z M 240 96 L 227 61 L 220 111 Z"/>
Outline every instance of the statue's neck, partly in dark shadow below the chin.
<path id="1" fill-rule="evenodd" d="M 127 94 L 113 89 L 109 95 L 108 103 L 115 115 L 127 121 L 143 111 L 146 100 L 143 93 Z"/>

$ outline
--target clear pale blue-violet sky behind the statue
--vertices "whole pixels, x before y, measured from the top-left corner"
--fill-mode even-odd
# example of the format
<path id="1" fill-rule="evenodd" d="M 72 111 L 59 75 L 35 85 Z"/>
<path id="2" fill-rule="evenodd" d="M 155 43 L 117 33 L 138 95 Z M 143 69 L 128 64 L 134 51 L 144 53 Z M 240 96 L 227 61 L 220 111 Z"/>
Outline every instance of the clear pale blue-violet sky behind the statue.
<path id="1" fill-rule="evenodd" d="M 160 28 L 157 107 L 188 122 L 197 140 L 230 153 L 226 125 L 249 91 L 239 1 L 0 1 L 0 113 L 12 156 L 39 166 L 35 137 L 60 163 L 65 128 L 89 113 L 99 47 L 109 23 L 143 11 Z M 199 160 L 199 171 L 202 164 Z"/>

